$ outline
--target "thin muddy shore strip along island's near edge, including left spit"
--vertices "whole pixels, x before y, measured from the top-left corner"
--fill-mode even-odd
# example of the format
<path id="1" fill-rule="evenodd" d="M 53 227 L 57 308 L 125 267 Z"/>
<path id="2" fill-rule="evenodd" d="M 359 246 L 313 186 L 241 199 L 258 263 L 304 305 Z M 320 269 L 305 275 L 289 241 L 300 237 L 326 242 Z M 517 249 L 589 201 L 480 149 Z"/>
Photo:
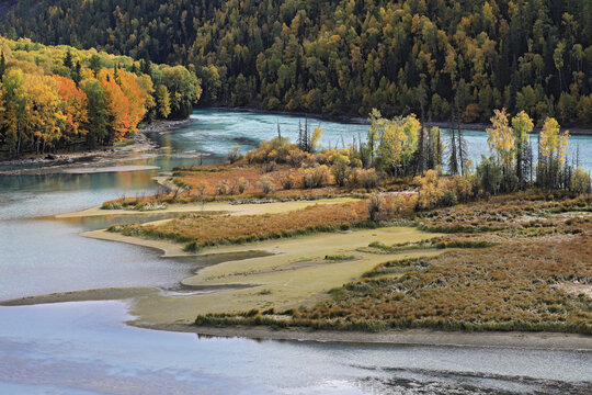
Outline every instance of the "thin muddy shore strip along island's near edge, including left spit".
<path id="1" fill-rule="evenodd" d="M 135 304 L 136 298 L 161 294 L 153 286 L 107 287 L 69 291 L 48 295 L 24 296 L 2 301 L 0 306 L 32 306 L 57 303 L 119 301 Z M 128 307 L 133 311 L 133 307 Z M 134 315 L 133 312 L 130 312 Z M 266 326 L 196 326 L 191 323 L 155 324 L 132 319 L 125 325 L 149 330 L 195 334 L 208 338 L 247 338 L 267 341 L 320 342 L 335 345 L 459 347 L 459 348 L 516 348 L 557 351 L 592 352 L 592 336 L 550 331 L 444 331 L 432 329 L 403 329 L 369 331 L 273 329 Z"/>

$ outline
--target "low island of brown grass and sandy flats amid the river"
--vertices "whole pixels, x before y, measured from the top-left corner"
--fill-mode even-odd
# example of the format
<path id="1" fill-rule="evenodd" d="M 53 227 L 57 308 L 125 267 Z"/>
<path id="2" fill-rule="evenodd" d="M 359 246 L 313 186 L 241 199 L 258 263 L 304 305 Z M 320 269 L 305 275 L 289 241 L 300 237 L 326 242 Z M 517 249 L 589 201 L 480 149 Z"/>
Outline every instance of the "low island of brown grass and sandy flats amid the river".
<path id="1" fill-rule="evenodd" d="M 262 149 L 264 144 L 259 153 Z M 339 185 L 329 173 L 308 188 L 307 178 L 322 179 L 316 172 L 326 165 L 295 168 L 278 162 L 266 170 L 248 159 L 180 167 L 159 178 L 174 192 L 122 198 L 102 208 L 57 216 L 138 217 L 159 207 L 156 212 L 166 218 L 83 235 L 203 260 L 205 267 L 182 281 L 183 295 L 109 289 L 5 304 L 125 297 L 133 301 L 133 324 L 160 329 L 492 346 L 525 345 L 530 339 L 533 347 L 590 348 L 585 195 L 549 201 L 531 191 L 488 202 L 466 199 L 460 205 L 418 213 L 424 188 L 443 188 L 447 179 L 383 181 L 376 194 L 371 193 L 376 187 L 362 181 L 372 172 L 361 170 L 358 181 Z M 294 184 L 286 188 L 289 178 Z M 266 191 L 265 180 L 273 185 Z M 446 187 L 460 193 L 462 185 Z M 228 191 L 220 192 L 223 188 Z M 378 200 L 374 218 L 373 200 Z M 533 249 L 540 252 L 524 259 Z M 261 324 L 289 330 L 258 328 Z M 323 331 L 310 332 L 312 328 Z M 557 334 L 561 331 L 576 335 Z"/>

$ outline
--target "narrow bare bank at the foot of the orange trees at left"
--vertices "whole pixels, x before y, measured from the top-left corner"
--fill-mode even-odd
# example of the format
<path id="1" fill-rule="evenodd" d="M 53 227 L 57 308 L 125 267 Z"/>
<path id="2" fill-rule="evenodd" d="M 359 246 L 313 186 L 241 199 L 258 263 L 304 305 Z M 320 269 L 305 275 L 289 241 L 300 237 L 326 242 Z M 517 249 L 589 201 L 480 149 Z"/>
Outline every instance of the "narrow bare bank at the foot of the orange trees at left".
<path id="1" fill-rule="evenodd" d="M 81 150 L 73 153 L 60 153 L 60 154 L 44 154 L 44 155 L 29 155 L 26 158 L 20 159 L 7 159 L 0 161 L 0 167 L 14 167 L 11 170 L 0 171 L 0 176 L 39 176 L 59 172 L 70 172 L 69 169 L 76 169 L 80 165 L 94 163 L 104 165 L 113 161 L 113 156 L 121 156 L 130 151 L 145 153 L 157 149 L 157 144 L 152 142 L 147 133 L 164 132 L 171 128 L 175 128 L 185 124 L 194 122 L 194 120 L 187 119 L 182 121 L 158 121 L 152 124 L 146 125 L 138 129 L 138 133 L 130 138 L 134 144 L 102 147 L 94 150 Z M 48 159 L 48 156 L 53 156 Z M 98 160 L 94 162 L 94 160 Z M 144 168 L 129 168 L 127 171 L 146 170 Z M 111 171 L 119 171 L 113 168 Z M 95 171 L 96 172 L 96 171 Z"/>

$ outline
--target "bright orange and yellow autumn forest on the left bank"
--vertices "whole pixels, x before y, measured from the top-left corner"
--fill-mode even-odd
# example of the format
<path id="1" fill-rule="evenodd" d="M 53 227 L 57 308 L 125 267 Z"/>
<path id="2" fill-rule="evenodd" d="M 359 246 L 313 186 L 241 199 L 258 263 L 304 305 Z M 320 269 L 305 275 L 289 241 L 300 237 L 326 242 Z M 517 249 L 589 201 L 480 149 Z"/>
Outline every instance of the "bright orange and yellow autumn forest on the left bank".
<path id="1" fill-rule="evenodd" d="M 0 37 L 0 157 L 109 146 L 143 120 L 189 116 L 200 95 L 183 66 Z"/>

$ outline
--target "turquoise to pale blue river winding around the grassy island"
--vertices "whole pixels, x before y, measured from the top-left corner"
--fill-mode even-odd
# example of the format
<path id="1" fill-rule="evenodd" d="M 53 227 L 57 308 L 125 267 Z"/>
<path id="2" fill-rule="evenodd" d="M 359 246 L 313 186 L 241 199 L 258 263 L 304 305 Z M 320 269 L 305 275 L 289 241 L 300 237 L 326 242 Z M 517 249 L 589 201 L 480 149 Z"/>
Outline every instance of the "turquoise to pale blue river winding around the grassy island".
<path id="1" fill-rule="evenodd" d="M 200 110 L 196 122 L 151 133 L 159 149 L 114 165 L 159 170 L 0 176 L 0 300 L 103 286 L 175 290 L 200 266 L 153 250 L 78 236 L 122 218 L 46 216 L 156 190 L 151 177 L 178 165 L 217 161 L 276 135 L 294 138 L 296 116 Z M 309 119 L 323 146 L 365 125 Z M 475 157 L 486 135 L 467 132 Z M 592 137 L 572 137 L 592 168 Z M 477 149 L 478 148 L 478 149 Z M 0 393 L 7 394 L 378 394 L 589 393 L 583 351 L 395 347 L 198 338 L 126 326 L 124 302 L 0 307 Z"/>

